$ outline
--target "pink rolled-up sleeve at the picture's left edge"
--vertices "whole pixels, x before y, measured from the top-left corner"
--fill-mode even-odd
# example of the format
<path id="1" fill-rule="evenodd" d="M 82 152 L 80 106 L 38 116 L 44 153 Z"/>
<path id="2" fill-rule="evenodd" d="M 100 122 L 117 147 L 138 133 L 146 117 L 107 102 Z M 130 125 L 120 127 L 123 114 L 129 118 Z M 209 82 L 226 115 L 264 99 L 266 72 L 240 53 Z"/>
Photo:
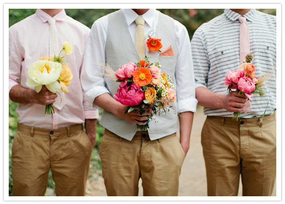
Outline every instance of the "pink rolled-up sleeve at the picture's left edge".
<path id="1" fill-rule="evenodd" d="M 9 29 L 9 93 L 13 86 L 19 84 L 22 61 L 23 57 L 17 47 L 17 41 L 12 31 Z M 11 101 L 10 97 L 9 100 Z"/>

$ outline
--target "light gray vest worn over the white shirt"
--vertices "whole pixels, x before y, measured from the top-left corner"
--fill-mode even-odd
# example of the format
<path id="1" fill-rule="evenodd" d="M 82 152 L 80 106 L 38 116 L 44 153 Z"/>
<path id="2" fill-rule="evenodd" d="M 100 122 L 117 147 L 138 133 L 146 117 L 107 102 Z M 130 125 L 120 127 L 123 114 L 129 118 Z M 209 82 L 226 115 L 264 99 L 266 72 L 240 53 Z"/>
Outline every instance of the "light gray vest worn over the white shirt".
<path id="1" fill-rule="evenodd" d="M 175 56 L 159 56 L 158 52 L 153 51 L 149 51 L 148 56 L 151 57 L 151 62 L 154 63 L 154 61 L 159 61 L 161 63 L 161 72 L 169 74 L 170 78 L 173 80 L 173 85 L 176 86 L 175 65 L 178 49 L 175 40 L 173 19 L 159 12 L 156 32 L 158 38 L 161 38 L 161 43 L 163 45 L 160 50 L 163 51 L 171 45 Z M 139 56 L 121 10 L 108 15 L 105 52 L 106 62 L 115 71 L 123 64 L 127 64 L 130 61 L 135 63 L 139 61 Z M 119 83 L 108 78 L 104 78 L 104 80 L 107 89 L 114 97 L 114 94 L 117 93 L 117 89 L 119 88 Z M 173 105 L 174 110 L 177 111 L 177 101 L 171 103 L 171 105 Z M 153 116 L 155 120 L 150 122 L 150 128 L 148 128 L 151 140 L 156 140 L 178 131 L 178 115 L 174 110 L 170 109 L 167 115 L 161 114 L 160 116 Z M 114 114 L 105 110 L 103 111 L 100 124 L 111 132 L 114 132 L 118 136 L 129 141 L 133 139 L 134 134 L 137 131 L 135 123 L 116 117 Z"/>

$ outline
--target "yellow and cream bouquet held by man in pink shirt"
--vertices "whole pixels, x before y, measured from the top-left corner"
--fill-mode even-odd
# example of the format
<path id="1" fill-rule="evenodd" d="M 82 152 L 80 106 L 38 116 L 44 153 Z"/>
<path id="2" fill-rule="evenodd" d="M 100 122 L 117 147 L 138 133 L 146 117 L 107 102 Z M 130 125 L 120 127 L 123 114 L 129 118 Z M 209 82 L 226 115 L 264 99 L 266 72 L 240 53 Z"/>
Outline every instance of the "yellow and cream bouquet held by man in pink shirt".
<path id="1" fill-rule="evenodd" d="M 41 57 L 38 61 L 32 63 L 28 69 L 26 85 L 34 87 L 36 93 L 39 93 L 42 86 L 45 85 L 50 92 L 59 93 L 61 89 L 68 93 L 67 86 L 70 85 L 72 77 L 71 70 L 68 68 L 67 59 L 61 56 L 64 51 L 67 55 L 72 53 L 71 43 L 63 43 L 62 50 L 53 57 Z M 54 113 L 53 104 L 46 105 L 45 114 Z"/>

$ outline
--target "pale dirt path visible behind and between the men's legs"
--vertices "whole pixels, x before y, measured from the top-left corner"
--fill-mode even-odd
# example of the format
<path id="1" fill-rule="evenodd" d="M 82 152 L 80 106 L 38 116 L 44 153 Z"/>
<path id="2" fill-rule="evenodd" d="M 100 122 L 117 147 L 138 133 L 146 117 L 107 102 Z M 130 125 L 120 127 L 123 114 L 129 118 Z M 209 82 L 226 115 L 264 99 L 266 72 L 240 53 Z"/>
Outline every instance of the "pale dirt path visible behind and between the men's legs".
<path id="1" fill-rule="evenodd" d="M 193 128 L 190 139 L 190 149 L 185 157 L 179 184 L 179 196 L 207 196 L 207 181 L 204 158 L 201 146 L 201 129 L 206 116 L 202 108 L 194 114 Z M 242 185 L 239 185 L 238 196 L 242 195 Z M 86 196 L 106 196 L 103 178 L 95 175 L 88 179 Z M 139 196 L 143 195 L 141 180 L 139 183 Z M 276 185 L 272 196 L 276 196 Z"/>

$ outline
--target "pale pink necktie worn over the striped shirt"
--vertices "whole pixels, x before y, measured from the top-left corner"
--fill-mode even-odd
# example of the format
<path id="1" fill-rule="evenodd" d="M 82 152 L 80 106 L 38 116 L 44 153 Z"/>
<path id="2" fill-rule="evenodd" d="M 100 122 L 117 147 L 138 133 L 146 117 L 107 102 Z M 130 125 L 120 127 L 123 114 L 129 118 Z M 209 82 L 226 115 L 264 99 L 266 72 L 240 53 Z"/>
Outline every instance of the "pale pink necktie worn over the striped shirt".
<path id="1" fill-rule="evenodd" d="M 238 18 L 240 22 L 240 28 L 239 28 L 239 60 L 240 64 L 245 60 L 245 56 L 249 53 L 251 53 L 250 49 L 250 33 L 249 33 L 249 27 L 246 22 L 246 18 L 243 16 L 240 16 Z"/>

